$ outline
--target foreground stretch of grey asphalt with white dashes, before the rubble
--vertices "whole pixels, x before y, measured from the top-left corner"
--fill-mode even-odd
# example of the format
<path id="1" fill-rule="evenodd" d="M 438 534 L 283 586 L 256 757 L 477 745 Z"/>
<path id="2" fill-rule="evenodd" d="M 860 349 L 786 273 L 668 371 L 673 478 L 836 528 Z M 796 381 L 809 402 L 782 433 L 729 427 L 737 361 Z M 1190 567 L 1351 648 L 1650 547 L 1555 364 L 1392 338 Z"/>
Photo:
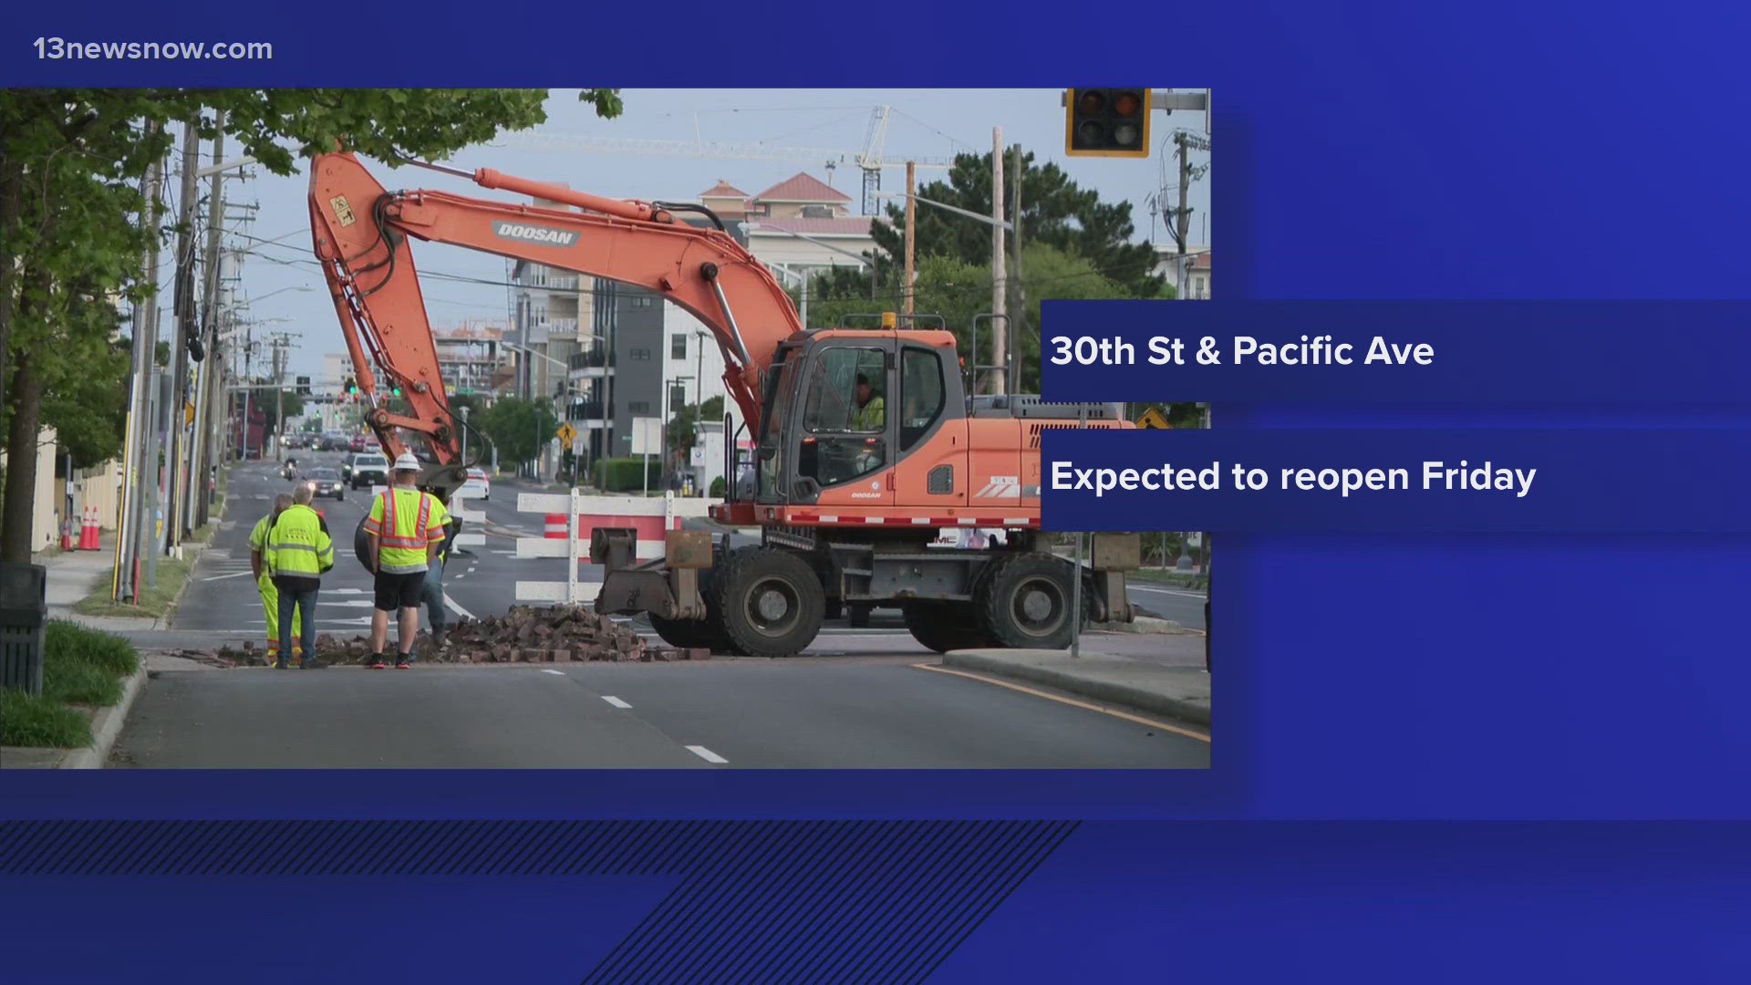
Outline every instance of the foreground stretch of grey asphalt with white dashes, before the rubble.
<path id="1" fill-rule="evenodd" d="M 914 659 L 166 671 L 112 766 L 1206 768 L 1210 745 Z"/>

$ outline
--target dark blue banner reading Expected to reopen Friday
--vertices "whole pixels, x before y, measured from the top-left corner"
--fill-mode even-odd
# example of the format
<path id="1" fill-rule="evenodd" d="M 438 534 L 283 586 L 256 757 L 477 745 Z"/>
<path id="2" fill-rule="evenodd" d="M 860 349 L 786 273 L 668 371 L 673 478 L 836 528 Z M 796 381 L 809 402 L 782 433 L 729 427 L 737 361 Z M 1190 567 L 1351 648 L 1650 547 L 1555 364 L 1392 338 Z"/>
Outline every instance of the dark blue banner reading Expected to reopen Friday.
<path id="1" fill-rule="evenodd" d="M 1250 535 L 1751 533 L 1751 428 L 1052 429 L 1040 461 L 1045 528 L 1059 531 L 1154 529 L 1171 517 Z M 1441 463 L 1429 487 L 1424 463 Z M 1241 489 L 1238 464 L 1262 470 L 1264 485 Z M 1163 470 L 1173 489 L 1142 485 L 1143 471 L 1161 485 Z M 1283 470 L 1294 470 L 1287 487 Z M 1115 485 L 1126 471 L 1131 489 Z M 1366 485 L 1369 471 L 1380 489 Z"/>

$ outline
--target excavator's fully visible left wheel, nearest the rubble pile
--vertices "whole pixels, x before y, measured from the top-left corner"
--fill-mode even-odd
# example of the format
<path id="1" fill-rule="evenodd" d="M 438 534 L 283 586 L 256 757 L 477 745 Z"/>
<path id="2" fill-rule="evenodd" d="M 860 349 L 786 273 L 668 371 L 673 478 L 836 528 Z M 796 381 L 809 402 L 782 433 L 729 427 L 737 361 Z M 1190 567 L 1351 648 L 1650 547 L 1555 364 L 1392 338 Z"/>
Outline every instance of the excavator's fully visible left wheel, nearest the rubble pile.
<path id="1" fill-rule="evenodd" d="M 713 601 L 730 643 L 749 657 L 791 657 L 821 631 L 826 594 L 814 570 L 776 547 L 742 547 L 713 573 Z"/>

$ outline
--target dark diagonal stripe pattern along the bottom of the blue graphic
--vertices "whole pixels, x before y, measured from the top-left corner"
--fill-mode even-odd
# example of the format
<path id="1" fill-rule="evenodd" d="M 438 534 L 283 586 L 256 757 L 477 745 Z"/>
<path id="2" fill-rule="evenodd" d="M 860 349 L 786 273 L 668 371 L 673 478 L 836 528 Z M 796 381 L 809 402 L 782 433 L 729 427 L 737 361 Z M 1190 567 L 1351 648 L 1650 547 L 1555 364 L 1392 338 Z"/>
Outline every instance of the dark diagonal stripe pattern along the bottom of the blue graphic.
<path id="1" fill-rule="evenodd" d="M 1017 820 L 16 820 L 0 875 L 678 875 L 583 981 L 923 981 L 1075 829 Z"/>

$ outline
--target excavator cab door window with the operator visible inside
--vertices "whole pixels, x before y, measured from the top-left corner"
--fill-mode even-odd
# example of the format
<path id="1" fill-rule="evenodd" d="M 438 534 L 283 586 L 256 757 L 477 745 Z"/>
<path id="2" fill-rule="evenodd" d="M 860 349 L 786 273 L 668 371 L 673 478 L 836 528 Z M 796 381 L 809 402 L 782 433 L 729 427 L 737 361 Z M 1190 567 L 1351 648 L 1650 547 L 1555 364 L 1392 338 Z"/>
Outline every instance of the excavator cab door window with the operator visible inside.
<path id="1" fill-rule="evenodd" d="M 809 370 L 798 477 L 839 485 L 888 464 L 886 380 L 881 349 L 821 352 Z"/>

